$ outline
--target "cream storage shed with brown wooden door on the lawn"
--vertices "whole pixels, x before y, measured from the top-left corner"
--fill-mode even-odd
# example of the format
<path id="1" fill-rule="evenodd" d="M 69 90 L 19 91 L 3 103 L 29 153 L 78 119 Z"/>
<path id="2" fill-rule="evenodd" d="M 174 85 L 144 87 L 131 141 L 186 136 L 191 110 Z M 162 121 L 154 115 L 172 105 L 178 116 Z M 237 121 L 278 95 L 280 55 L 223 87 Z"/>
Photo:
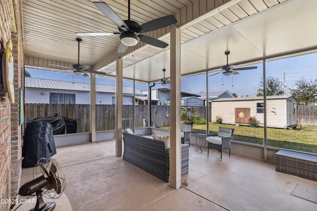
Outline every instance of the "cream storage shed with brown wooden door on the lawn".
<path id="1" fill-rule="evenodd" d="M 267 127 L 287 128 L 297 126 L 297 100 L 293 95 L 266 97 Z M 263 97 L 221 98 L 211 103 L 211 121 L 221 116 L 223 124 L 248 125 L 256 117 L 264 125 Z"/>

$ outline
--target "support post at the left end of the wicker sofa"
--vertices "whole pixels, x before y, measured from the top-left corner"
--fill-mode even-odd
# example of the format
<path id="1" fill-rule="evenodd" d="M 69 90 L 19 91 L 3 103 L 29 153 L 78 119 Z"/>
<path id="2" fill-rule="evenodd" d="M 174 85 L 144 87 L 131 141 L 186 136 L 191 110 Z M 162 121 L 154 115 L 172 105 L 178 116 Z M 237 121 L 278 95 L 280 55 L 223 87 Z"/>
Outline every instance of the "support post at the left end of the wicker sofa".
<path id="1" fill-rule="evenodd" d="M 115 156 L 122 156 L 122 89 L 123 89 L 123 62 L 117 59 L 115 80 Z"/>

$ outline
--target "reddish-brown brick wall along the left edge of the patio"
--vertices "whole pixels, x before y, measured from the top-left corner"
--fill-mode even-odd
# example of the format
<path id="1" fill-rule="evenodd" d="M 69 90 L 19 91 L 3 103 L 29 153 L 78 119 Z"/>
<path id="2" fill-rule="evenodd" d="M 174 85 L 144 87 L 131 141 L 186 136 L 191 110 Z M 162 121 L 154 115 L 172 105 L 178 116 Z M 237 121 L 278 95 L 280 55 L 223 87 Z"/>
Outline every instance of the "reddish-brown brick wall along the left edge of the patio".
<path id="1" fill-rule="evenodd" d="M 10 6 L 14 10 L 11 14 Z M 18 124 L 18 96 L 19 87 L 23 87 L 23 41 L 20 20 L 20 0 L 1 0 L 0 4 L 0 61 L 3 48 L 9 38 L 13 44 L 14 59 L 14 98 L 10 104 L 8 94 L 4 91 L 2 74 L 0 74 L 0 197 L 12 199 L 16 196 L 16 189 L 20 180 L 21 164 L 21 126 Z M 10 18 L 15 17 L 16 31 L 11 33 Z M 11 154 L 12 152 L 12 154 Z M 12 177 L 11 173 L 14 172 Z M 12 193 L 11 188 L 15 187 Z M 10 206 L 0 204 L 0 211 L 8 211 Z"/>

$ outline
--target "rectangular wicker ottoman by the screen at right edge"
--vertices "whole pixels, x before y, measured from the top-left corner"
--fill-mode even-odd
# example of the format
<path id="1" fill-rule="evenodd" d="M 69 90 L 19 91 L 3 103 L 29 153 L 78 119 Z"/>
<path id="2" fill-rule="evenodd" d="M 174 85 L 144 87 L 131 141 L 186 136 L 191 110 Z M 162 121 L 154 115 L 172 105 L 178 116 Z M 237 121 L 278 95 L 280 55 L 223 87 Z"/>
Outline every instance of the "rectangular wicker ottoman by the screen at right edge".
<path id="1" fill-rule="evenodd" d="M 275 161 L 276 171 L 317 181 L 317 155 L 280 150 Z"/>

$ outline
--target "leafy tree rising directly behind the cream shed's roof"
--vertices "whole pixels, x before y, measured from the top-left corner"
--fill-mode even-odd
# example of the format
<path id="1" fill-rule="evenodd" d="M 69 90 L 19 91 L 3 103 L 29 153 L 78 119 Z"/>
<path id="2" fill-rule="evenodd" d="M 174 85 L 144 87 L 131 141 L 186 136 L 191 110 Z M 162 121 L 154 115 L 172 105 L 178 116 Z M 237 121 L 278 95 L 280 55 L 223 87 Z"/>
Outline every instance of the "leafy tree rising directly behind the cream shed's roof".
<path id="1" fill-rule="evenodd" d="M 263 79 L 261 79 L 257 89 L 257 96 L 263 96 Z M 283 84 L 278 78 L 270 76 L 266 79 L 266 96 L 284 94 Z"/>

